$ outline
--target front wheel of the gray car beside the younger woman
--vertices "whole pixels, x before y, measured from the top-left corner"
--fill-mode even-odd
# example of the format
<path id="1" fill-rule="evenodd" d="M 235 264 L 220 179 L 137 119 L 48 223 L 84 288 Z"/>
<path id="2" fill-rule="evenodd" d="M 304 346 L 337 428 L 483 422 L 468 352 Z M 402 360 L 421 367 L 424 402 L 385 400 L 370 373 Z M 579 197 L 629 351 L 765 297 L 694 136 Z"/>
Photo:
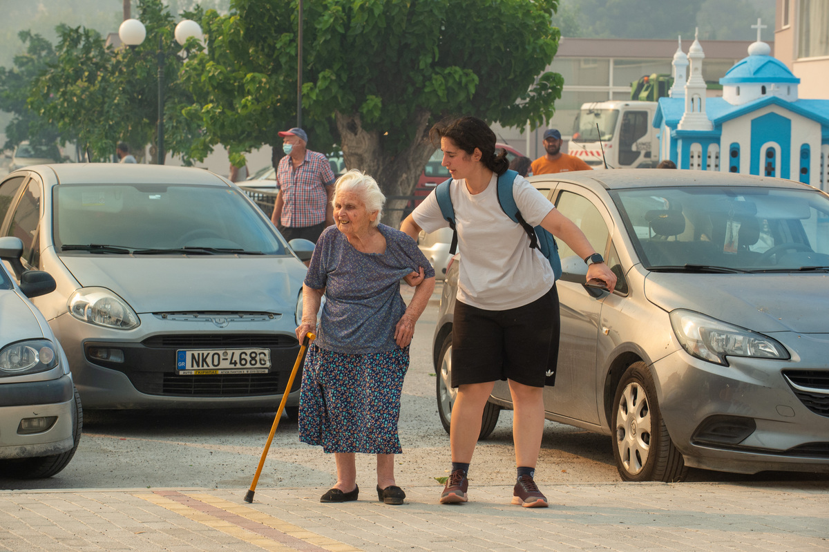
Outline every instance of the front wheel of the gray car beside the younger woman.
<path id="1" fill-rule="evenodd" d="M 651 370 L 634 362 L 613 400 L 613 457 L 624 481 L 680 482 L 688 468 L 665 427 Z"/>

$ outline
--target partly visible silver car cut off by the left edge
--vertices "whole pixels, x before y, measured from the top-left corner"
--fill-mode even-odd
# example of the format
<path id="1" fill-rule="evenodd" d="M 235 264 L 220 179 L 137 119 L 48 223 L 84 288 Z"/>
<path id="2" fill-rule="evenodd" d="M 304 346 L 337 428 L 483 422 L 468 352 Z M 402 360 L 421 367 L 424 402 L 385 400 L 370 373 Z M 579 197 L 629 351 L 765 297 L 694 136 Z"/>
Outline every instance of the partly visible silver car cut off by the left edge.
<path id="1" fill-rule="evenodd" d="M 0 477 L 29 479 L 66 467 L 83 413 L 61 345 L 29 300 L 50 293 L 55 280 L 23 272 L 22 249 L 17 238 L 0 238 L 0 259 L 21 278 L 18 286 L 0 264 Z"/>

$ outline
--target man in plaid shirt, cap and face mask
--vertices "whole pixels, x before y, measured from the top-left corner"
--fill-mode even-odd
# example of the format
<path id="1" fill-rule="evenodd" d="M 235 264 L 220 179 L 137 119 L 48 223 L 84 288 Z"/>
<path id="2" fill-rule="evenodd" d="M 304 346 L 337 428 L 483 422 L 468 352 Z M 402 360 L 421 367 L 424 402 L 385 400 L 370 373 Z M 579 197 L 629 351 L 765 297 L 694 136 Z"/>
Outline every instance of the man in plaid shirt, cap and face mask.
<path id="1" fill-rule="evenodd" d="M 278 193 L 270 220 L 285 240 L 303 238 L 316 243 L 322 230 L 334 224 L 331 196 L 334 172 L 322 153 L 305 148 L 308 134 L 302 128 L 279 133 L 285 157 L 276 167 Z"/>

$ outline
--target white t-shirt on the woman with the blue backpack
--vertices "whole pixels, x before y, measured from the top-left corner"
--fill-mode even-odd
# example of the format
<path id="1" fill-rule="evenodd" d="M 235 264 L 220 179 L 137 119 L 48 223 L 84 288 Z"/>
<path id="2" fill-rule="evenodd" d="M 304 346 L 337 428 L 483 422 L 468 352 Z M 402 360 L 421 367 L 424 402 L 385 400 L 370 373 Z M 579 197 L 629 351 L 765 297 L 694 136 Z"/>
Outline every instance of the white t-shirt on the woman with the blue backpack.
<path id="1" fill-rule="evenodd" d="M 541 223 L 551 210 L 550 201 L 520 175 L 512 194 L 518 211 L 531 226 Z M 530 249 L 530 238 L 512 222 L 497 197 L 493 173 L 487 189 L 469 193 L 466 181 L 449 183 L 455 211 L 458 251 L 463 262 L 458 274 L 458 300 L 488 311 L 502 311 L 532 303 L 550 291 L 555 274 L 539 249 Z M 414 222 L 427 233 L 449 223 L 440 213 L 434 191 L 412 212 Z"/>

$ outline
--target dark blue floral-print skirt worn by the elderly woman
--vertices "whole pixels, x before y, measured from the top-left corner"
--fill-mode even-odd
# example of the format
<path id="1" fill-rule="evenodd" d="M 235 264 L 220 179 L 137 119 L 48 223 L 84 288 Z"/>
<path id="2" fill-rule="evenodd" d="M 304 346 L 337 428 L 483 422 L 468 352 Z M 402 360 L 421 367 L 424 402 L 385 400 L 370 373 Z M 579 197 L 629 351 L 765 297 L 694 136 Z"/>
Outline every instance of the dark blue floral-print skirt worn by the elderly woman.
<path id="1" fill-rule="evenodd" d="M 320 349 L 303 366 L 299 440 L 326 453 L 400 454 L 397 419 L 409 347 L 366 355 Z"/>

